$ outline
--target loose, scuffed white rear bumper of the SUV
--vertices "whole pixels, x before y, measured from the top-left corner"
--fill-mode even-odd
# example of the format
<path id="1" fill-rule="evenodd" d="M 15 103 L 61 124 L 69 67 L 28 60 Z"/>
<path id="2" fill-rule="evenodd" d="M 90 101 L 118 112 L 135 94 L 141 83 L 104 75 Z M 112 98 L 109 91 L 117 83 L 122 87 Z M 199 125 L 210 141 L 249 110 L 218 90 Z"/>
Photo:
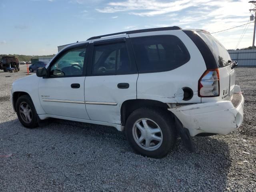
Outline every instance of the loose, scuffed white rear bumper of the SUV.
<path id="1" fill-rule="evenodd" d="M 236 92 L 235 92 L 236 91 Z M 190 136 L 200 133 L 226 135 L 237 130 L 244 119 L 244 97 L 236 86 L 231 100 L 192 104 L 168 109 L 182 122 Z"/>

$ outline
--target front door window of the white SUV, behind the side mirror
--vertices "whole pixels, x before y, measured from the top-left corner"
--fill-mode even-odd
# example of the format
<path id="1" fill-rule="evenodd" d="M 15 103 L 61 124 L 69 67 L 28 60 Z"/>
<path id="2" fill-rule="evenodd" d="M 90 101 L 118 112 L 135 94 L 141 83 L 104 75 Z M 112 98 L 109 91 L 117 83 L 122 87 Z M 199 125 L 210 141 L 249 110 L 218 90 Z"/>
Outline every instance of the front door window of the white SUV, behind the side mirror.
<path id="1" fill-rule="evenodd" d="M 74 48 L 65 52 L 50 69 L 50 76 L 76 76 L 83 74 L 86 48 Z"/>

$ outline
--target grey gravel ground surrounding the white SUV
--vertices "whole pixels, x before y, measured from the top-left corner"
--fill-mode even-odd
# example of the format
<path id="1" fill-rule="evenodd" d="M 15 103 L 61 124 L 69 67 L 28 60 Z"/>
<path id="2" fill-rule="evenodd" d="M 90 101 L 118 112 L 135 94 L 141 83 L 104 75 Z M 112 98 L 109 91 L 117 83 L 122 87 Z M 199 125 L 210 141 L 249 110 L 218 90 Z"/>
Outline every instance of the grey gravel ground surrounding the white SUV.
<path id="1" fill-rule="evenodd" d="M 256 191 L 256 68 L 236 69 L 245 97 L 238 131 L 193 138 L 196 153 L 178 139 L 162 159 L 135 154 L 107 126 L 53 120 L 24 128 L 9 94 L 25 71 L 0 72 L 0 191 Z"/>

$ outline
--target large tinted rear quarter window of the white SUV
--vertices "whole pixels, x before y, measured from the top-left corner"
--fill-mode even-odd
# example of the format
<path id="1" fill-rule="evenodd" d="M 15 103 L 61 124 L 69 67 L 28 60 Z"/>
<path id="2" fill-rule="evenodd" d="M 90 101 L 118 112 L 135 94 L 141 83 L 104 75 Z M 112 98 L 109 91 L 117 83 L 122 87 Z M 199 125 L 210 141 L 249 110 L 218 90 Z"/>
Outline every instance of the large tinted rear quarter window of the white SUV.
<path id="1" fill-rule="evenodd" d="M 190 55 L 182 41 L 173 35 L 132 38 L 139 72 L 160 72 L 178 68 Z"/>

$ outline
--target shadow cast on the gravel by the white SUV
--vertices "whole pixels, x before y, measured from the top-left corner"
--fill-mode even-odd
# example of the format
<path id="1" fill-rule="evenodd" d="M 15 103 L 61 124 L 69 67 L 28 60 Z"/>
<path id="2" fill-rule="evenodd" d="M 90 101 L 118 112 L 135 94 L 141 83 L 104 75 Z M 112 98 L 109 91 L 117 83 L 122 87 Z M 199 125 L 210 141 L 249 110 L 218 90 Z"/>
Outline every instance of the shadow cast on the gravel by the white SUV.
<path id="1" fill-rule="evenodd" d="M 27 129 L 16 119 L 1 123 L 0 129 L 2 147 L 14 154 L 14 166 L 40 165 L 40 180 L 33 182 L 39 189 L 52 180 L 67 191 L 74 185 L 78 190 L 95 185 L 103 191 L 223 191 L 228 185 L 229 147 L 218 136 L 193 138 L 196 153 L 178 139 L 166 157 L 153 159 L 136 154 L 124 132 L 108 126 L 52 119 Z M 6 173 L 9 168 L 3 164 Z M 20 174 L 27 178 L 39 173 Z"/>

